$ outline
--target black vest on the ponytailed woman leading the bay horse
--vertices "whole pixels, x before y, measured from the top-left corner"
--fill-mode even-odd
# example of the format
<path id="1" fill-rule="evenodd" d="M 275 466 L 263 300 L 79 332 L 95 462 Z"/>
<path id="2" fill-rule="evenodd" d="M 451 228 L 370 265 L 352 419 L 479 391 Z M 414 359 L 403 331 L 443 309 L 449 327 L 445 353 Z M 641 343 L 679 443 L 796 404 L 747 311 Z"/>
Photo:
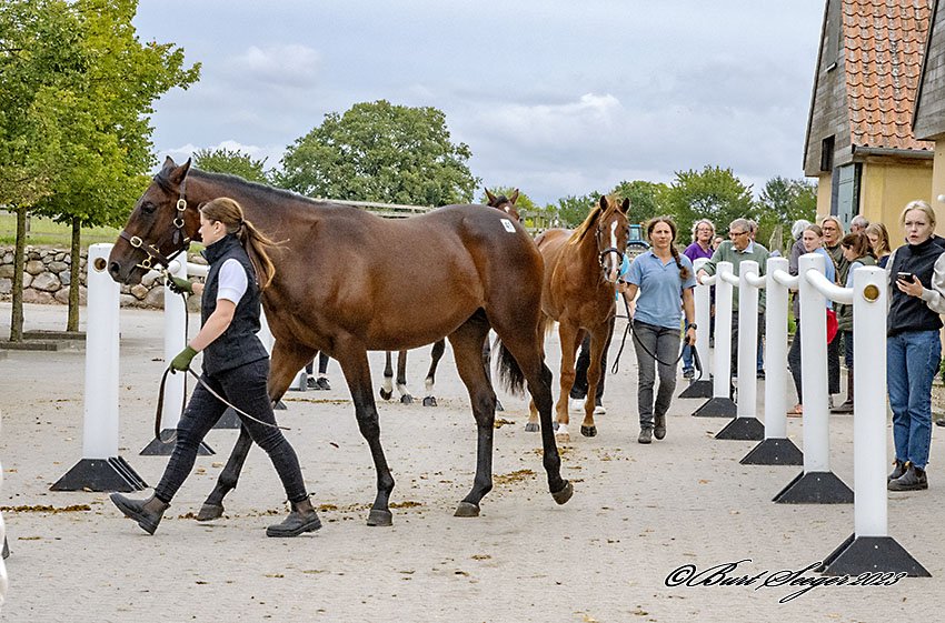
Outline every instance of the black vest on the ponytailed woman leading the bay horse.
<path id="1" fill-rule="evenodd" d="M 203 251 L 203 257 L 210 263 L 207 273 L 207 284 L 200 310 L 201 325 L 217 309 L 217 288 L 219 285 L 220 267 L 227 260 L 236 260 L 246 271 L 246 292 L 237 303 L 233 320 L 223 334 L 210 342 L 203 349 L 203 372 L 213 375 L 239 368 L 260 359 L 269 353 L 256 336 L 259 332 L 259 284 L 256 282 L 256 270 L 249 261 L 249 255 L 235 234 L 227 234 Z"/>

